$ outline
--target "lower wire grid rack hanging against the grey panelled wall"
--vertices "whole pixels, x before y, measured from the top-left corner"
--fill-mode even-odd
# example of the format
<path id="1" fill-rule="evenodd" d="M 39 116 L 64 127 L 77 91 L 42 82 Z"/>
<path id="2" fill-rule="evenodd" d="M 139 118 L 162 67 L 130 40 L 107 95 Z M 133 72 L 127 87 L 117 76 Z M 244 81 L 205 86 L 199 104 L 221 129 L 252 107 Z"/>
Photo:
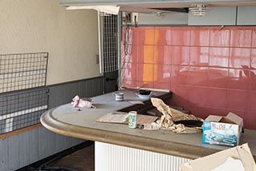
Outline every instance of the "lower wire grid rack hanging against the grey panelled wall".
<path id="1" fill-rule="evenodd" d="M 48 102 L 46 88 L 0 94 L 0 134 L 38 124 Z"/>

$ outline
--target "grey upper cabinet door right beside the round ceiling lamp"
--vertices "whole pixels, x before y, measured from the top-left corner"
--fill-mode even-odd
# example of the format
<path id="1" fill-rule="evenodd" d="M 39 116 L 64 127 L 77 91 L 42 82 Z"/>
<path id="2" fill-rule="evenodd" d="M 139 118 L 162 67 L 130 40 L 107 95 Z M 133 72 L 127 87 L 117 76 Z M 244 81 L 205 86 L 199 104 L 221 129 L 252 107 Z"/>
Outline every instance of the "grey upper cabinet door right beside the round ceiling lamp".
<path id="1" fill-rule="evenodd" d="M 210 7 L 210 6 L 209 6 Z M 234 26 L 236 6 L 210 7 L 205 16 L 194 16 L 189 13 L 189 26 Z"/>

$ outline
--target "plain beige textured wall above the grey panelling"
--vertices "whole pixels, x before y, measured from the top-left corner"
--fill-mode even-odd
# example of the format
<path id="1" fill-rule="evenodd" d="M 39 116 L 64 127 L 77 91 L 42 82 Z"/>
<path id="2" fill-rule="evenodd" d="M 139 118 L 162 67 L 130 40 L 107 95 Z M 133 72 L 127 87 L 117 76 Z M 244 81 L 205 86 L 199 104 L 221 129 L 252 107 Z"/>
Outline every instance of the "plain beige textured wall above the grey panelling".
<path id="1" fill-rule="evenodd" d="M 0 54 L 49 52 L 47 85 L 99 76 L 94 10 L 65 10 L 58 0 L 0 1 Z"/>

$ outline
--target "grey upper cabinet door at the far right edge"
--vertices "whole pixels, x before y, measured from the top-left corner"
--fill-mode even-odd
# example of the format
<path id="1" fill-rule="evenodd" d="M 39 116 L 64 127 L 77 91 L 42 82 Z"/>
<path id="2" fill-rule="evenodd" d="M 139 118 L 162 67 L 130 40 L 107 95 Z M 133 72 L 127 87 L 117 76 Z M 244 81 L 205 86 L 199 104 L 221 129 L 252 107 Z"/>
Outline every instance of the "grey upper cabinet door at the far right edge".
<path id="1" fill-rule="evenodd" d="M 256 25 L 256 6 L 238 6 L 238 25 Z"/>

